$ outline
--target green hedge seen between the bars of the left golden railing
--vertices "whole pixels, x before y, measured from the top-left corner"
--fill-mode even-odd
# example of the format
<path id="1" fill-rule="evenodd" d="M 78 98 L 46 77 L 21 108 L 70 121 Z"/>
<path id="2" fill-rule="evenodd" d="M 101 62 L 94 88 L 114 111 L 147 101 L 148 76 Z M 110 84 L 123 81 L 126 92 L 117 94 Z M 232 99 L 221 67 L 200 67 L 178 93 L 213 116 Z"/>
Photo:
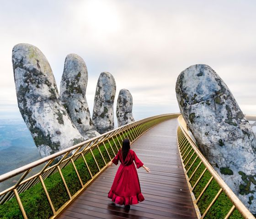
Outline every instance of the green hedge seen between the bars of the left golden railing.
<path id="1" fill-rule="evenodd" d="M 136 128 L 133 128 L 132 130 L 126 131 L 120 136 L 118 135 L 113 137 L 113 139 L 111 138 L 109 142 L 105 141 L 104 143 L 108 153 L 103 144 L 99 146 L 101 153 L 99 149 L 95 147 L 93 149 L 93 155 L 95 156 L 99 167 L 104 167 L 105 162 L 108 163 L 110 161 L 109 156 L 112 159 L 115 156 L 115 154 L 117 154 L 118 150 L 121 148 L 120 144 L 122 143 L 124 138 L 128 137 L 131 141 L 133 141 L 141 133 L 141 130 L 145 129 L 146 127 L 146 124 L 139 125 Z M 105 162 L 103 159 L 105 160 Z M 85 154 L 85 160 L 93 176 L 97 172 L 99 172 L 99 169 L 90 151 L 88 151 Z M 90 172 L 87 169 L 85 162 L 81 156 L 75 159 L 75 167 L 79 172 L 83 184 L 85 184 L 91 179 Z M 74 195 L 80 188 L 82 188 L 82 186 L 80 184 L 79 178 L 75 172 L 72 163 L 69 163 L 66 167 L 61 169 L 61 172 L 69 188 L 70 194 Z M 48 190 L 49 196 L 53 202 L 54 209 L 57 211 L 64 203 L 66 203 L 69 200 L 68 193 L 66 191 L 66 188 L 60 177 L 59 172 L 56 172 L 51 176 L 47 177 L 44 180 L 44 183 Z M 37 183 L 32 188 L 29 188 L 25 192 L 21 193 L 20 198 L 29 219 L 48 219 L 53 215 L 41 183 Z M 0 218 L 23 218 L 16 198 L 12 198 L 8 202 L 0 205 Z"/>

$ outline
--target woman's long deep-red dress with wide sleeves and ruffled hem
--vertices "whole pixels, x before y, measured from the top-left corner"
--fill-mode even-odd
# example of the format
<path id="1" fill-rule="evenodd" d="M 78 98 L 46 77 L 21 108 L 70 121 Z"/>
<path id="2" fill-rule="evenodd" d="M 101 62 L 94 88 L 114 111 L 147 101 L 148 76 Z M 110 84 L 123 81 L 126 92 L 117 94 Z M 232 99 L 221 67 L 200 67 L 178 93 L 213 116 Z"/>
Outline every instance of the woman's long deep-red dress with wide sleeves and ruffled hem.
<path id="1" fill-rule="evenodd" d="M 140 190 L 139 177 L 136 167 L 142 167 L 143 163 L 139 160 L 133 150 L 129 150 L 123 162 L 122 150 L 119 150 L 112 162 L 119 166 L 112 187 L 108 193 L 108 198 L 120 205 L 138 204 L 144 201 L 144 197 Z"/>

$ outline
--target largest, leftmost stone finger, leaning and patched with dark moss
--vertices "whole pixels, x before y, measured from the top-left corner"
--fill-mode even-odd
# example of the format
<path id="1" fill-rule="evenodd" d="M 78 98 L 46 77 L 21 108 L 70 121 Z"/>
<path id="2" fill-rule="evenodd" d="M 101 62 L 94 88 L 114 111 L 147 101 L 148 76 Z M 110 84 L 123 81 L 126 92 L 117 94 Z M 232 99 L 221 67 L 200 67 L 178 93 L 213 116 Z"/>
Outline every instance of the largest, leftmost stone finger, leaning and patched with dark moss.
<path id="1" fill-rule="evenodd" d="M 63 105 L 52 69 L 43 53 L 30 44 L 12 51 L 18 106 L 42 157 L 84 141 Z"/>

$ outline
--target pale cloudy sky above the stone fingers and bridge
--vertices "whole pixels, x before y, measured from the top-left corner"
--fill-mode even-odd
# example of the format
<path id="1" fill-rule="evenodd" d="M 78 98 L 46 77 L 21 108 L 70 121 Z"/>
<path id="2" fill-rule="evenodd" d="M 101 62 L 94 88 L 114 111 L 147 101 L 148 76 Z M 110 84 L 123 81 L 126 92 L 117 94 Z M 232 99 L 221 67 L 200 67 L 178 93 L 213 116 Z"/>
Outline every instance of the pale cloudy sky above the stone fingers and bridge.
<path id="1" fill-rule="evenodd" d="M 29 43 L 47 57 L 57 86 L 67 54 L 88 69 L 92 115 L 97 79 L 111 73 L 133 95 L 135 120 L 179 112 L 175 83 L 208 64 L 241 110 L 256 114 L 256 2 L 253 0 L 0 0 L 0 119 L 21 119 L 11 53 Z"/>

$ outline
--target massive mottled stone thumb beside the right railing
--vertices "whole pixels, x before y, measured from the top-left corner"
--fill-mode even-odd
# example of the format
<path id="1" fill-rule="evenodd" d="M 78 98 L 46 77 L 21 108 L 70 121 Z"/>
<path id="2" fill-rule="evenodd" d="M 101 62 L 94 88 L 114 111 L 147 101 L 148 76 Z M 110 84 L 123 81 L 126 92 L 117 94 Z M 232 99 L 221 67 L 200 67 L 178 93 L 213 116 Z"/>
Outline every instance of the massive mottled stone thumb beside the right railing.
<path id="1" fill-rule="evenodd" d="M 251 125 L 217 73 L 193 65 L 177 78 L 181 113 L 203 155 L 256 214 L 256 141 Z"/>

